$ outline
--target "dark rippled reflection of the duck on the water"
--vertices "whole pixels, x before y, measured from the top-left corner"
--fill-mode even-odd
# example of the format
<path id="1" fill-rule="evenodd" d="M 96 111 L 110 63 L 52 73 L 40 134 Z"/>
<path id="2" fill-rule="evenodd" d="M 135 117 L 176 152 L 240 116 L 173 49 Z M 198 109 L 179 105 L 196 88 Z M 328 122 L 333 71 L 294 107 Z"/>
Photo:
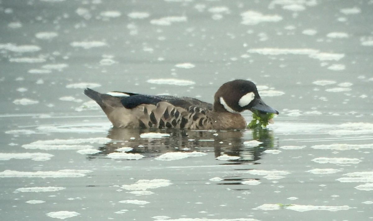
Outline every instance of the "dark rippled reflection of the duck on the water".
<path id="1" fill-rule="evenodd" d="M 162 138 L 141 138 L 144 133 L 169 134 Z M 88 158 L 106 158 L 110 153 L 117 152 L 118 148 L 131 147 L 126 153 L 141 154 L 142 159 L 159 157 L 167 152 L 214 152 L 214 156 L 228 155 L 239 157 L 238 160 L 223 161 L 223 164 L 253 164 L 261 158 L 266 149 L 277 145 L 271 130 L 207 130 L 190 131 L 179 129 L 143 130 L 112 128 L 107 138 L 112 141 L 99 148 L 101 152 L 89 155 Z M 261 144 L 256 146 L 244 145 L 245 141 L 256 140 Z"/>

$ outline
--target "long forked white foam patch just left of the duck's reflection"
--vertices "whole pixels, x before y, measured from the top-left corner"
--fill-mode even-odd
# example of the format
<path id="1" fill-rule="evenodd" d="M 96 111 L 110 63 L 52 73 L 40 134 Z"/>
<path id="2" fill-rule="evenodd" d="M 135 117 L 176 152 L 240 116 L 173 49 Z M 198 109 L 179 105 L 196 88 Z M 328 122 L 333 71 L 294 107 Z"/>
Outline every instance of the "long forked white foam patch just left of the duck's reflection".
<path id="1" fill-rule="evenodd" d="M 73 149 L 90 149 L 91 145 L 78 145 L 79 143 L 99 143 L 110 142 L 109 138 L 85 138 L 85 139 L 54 139 L 45 141 L 35 141 L 22 145 L 25 149 L 43 149 L 43 150 L 73 150 Z"/>

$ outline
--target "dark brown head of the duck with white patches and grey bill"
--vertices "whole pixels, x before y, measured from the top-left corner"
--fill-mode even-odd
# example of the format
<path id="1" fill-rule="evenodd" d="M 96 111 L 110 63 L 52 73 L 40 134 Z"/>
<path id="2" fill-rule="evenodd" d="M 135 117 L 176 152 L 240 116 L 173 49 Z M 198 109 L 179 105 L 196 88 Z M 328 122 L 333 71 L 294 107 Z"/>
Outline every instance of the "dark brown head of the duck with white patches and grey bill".
<path id="1" fill-rule="evenodd" d="M 256 85 L 250 80 L 232 80 L 220 86 L 214 96 L 214 111 L 240 113 L 244 110 L 279 114 L 261 100 Z"/>

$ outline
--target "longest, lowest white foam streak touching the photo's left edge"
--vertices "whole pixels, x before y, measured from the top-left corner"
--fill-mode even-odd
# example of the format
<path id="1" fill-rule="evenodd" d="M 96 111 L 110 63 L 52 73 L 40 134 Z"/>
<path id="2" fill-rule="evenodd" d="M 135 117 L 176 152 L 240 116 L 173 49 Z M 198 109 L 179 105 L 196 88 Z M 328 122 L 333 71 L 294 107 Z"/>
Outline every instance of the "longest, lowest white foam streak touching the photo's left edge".
<path id="1" fill-rule="evenodd" d="M 39 177 L 39 178 L 66 178 L 66 177 L 84 177 L 85 173 L 91 170 L 59 170 L 59 171 L 36 171 L 23 172 L 15 170 L 4 170 L 0 172 L 0 177 Z"/>

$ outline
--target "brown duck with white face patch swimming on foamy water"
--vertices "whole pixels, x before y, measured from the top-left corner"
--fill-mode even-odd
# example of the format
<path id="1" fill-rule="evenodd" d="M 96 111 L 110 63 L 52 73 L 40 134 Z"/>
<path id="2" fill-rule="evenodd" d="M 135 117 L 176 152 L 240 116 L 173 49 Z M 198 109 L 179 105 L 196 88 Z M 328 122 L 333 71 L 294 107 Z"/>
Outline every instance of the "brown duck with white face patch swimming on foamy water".
<path id="1" fill-rule="evenodd" d="M 213 104 L 170 95 L 101 94 L 90 88 L 84 94 L 97 102 L 113 127 L 128 129 L 242 130 L 247 127 L 242 111 L 279 114 L 260 98 L 255 83 L 242 79 L 223 83 Z"/>

